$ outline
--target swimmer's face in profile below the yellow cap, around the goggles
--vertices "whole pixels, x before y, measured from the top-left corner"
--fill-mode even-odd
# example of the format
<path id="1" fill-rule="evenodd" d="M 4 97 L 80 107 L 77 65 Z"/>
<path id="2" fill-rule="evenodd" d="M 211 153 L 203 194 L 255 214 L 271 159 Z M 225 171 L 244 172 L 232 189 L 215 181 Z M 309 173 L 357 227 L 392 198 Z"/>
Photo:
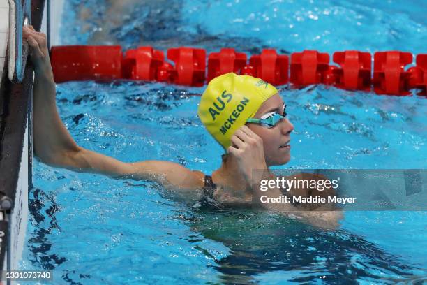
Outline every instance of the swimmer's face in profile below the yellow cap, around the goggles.
<path id="1" fill-rule="evenodd" d="M 262 103 L 254 118 L 260 119 L 262 115 L 274 111 L 283 115 L 283 104 L 284 102 L 279 94 L 275 94 Z M 283 147 L 290 141 L 290 133 L 294 130 L 294 125 L 289 122 L 289 119 L 281 119 L 272 128 L 260 124 L 247 124 L 247 126 L 262 138 L 267 166 L 280 166 L 290 161 L 290 145 Z"/>

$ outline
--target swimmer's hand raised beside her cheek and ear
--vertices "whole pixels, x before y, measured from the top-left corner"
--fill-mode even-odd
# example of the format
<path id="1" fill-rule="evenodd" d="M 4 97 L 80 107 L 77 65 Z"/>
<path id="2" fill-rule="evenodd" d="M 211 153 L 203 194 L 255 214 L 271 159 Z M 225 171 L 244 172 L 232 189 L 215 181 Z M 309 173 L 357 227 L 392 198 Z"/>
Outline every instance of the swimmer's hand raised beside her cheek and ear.
<path id="1" fill-rule="evenodd" d="M 227 148 L 227 152 L 236 157 L 239 170 L 246 182 L 250 185 L 256 184 L 261 177 L 253 177 L 253 170 L 267 169 L 262 138 L 248 126 L 241 126 L 231 140 L 232 145 Z"/>

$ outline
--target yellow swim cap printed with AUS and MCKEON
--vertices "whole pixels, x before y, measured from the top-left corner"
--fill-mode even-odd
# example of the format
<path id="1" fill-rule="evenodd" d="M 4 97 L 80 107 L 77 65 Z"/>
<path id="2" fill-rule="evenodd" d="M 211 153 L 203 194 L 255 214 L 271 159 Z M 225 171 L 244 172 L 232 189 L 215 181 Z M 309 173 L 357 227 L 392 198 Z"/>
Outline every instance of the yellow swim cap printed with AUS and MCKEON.
<path id="1" fill-rule="evenodd" d="M 249 75 L 227 73 L 213 78 L 202 94 L 197 114 L 220 145 L 231 145 L 234 131 L 246 124 L 277 89 Z"/>

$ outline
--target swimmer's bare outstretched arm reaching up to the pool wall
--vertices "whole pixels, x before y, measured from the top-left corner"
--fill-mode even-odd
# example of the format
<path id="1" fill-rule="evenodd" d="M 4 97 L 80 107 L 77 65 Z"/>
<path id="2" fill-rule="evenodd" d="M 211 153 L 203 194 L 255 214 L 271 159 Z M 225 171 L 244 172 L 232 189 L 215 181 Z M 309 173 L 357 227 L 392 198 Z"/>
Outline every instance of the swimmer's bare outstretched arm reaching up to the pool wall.
<path id="1" fill-rule="evenodd" d="M 33 87 L 34 154 L 50 166 L 112 177 L 154 180 L 165 186 L 197 188 L 202 173 L 168 161 L 125 163 L 77 145 L 57 112 L 56 89 L 46 36 L 24 27 L 23 36 L 31 47 L 35 78 Z"/>

